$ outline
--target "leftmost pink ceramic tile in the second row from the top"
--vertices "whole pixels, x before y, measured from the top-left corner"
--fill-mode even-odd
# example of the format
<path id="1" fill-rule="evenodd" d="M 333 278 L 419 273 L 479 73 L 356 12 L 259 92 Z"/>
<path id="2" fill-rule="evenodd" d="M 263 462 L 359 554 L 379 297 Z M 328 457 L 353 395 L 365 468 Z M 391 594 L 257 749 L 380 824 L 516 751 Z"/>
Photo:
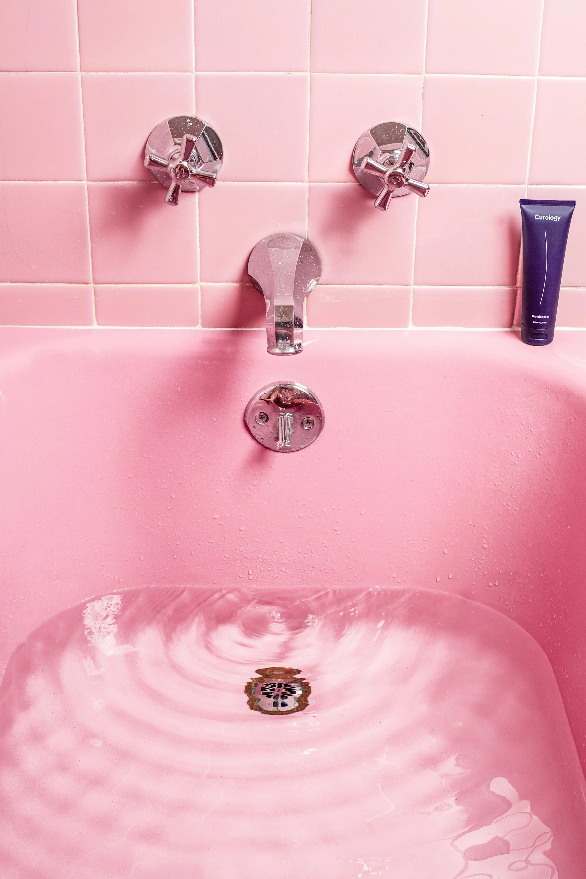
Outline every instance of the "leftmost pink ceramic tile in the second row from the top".
<path id="1" fill-rule="evenodd" d="M 82 105 L 75 73 L 0 76 L 0 178 L 83 180 Z M 39 140 L 23 136 L 31 127 Z"/>

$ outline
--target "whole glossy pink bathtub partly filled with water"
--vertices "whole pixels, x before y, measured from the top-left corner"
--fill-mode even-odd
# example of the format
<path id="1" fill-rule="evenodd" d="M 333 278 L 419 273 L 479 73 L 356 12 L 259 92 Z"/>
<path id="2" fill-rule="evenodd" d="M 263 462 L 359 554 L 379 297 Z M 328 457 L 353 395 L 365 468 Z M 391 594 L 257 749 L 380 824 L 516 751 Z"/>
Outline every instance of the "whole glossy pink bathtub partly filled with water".
<path id="1" fill-rule="evenodd" d="M 586 872 L 584 334 L 307 335 L 1 331 L 2 879 Z"/>

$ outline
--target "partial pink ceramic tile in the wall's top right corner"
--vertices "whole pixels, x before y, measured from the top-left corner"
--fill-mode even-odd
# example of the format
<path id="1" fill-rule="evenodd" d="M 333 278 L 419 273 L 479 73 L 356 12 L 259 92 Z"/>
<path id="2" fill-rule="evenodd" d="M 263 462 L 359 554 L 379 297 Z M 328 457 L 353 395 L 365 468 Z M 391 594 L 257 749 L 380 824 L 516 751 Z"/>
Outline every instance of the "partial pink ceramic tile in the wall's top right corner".
<path id="1" fill-rule="evenodd" d="M 546 0 L 541 31 L 541 76 L 586 76 L 583 0 Z"/>

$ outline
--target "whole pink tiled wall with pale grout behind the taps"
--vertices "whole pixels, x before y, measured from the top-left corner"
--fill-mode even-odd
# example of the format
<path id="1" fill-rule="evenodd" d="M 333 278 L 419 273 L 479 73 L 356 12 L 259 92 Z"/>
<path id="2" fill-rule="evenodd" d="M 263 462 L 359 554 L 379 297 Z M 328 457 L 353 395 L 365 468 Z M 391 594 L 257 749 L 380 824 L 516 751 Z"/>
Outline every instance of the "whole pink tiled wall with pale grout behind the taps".
<path id="1" fill-rule="evenodd" d="M 262 328 L 248 256 L 290 230 L 322 257 L 309 326 L 510 327 L 528 196 L 578 203 L 558 325 L 586 326 L 584 8 L 2 4 L 0 324 Z M 175 209 L 144 143 L 195 110 L 225 161 Z M 427 138 L 431 192 L 383 214 L 351 151 L 386 119 Z"/>

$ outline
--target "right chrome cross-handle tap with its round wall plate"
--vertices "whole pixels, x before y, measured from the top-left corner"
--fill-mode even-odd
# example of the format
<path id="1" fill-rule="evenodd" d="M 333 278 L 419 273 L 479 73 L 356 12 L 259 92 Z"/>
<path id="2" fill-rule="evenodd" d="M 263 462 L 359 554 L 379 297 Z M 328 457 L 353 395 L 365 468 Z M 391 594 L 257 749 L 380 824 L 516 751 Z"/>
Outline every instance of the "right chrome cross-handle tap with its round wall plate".
<path id="1" fill-rule="evenodd" d="M 381 122 L 358 138 L 352 171 L 358 183 L 376 196 L 374 207 L 388 210 L 391 199 L 416 193 L 424 198 L 423 183 L 430 166 L 430 148 L 422 134 L 402 122 Z"/>

